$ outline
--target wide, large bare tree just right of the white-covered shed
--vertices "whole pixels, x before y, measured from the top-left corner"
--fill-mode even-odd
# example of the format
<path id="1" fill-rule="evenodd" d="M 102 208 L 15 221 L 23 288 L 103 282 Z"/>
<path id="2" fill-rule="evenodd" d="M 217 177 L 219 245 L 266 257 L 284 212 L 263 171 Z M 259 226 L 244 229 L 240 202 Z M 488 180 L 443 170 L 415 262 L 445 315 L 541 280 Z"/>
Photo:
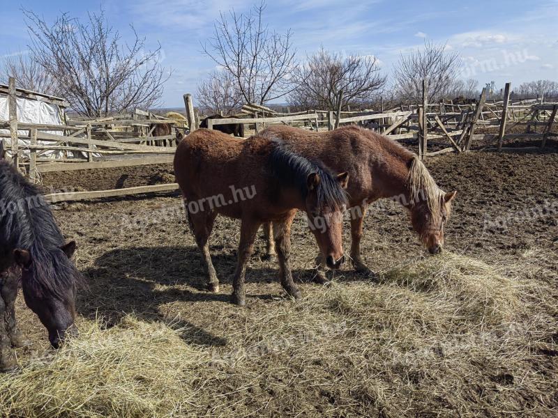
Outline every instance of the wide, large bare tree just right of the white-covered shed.
<path id="1" fill-rule="evenodd" d="M 102 10 L 85 23 L 64 13 L 52 26 L 29 10 L 24 15 L 33 59 L 78 114 L 98 117 L 158 104 L 168 79 L 159 63 L 161 49 L 145 51 L 133 27 L 128 44 Z"/>

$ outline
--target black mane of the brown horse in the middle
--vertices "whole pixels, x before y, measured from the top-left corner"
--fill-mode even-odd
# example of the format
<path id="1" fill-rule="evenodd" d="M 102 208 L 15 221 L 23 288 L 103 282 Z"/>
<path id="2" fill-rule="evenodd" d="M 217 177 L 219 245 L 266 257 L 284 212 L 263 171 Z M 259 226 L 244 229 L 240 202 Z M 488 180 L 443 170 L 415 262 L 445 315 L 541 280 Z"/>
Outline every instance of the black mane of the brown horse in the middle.
<path id="1" fill-rule="evenodd" d="M 309 160 L 294 153 L 280 139 L 271 139 L 273 148 L 269 154 L 271 175 L 284 185 L 298 187 L 303 199 L 308 195 L 308 176 L 317 173 L 320 181 L 317 186 L 317 206 L 321 210 L 338 210 L 347 204 L 345 189 L 340 187 L 335 175 L 317 160 Z"/>

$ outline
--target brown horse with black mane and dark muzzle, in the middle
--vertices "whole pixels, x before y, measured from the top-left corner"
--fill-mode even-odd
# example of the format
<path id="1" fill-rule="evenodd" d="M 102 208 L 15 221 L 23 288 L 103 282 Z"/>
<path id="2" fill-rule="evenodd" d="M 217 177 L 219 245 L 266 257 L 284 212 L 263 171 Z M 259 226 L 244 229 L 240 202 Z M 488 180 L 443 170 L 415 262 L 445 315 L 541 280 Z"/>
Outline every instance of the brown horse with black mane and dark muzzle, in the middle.
<path id="1" fill-rule="evenodd" d="M 233 303 L 246 304 L 246 263 L 264 222 L 273 222 L 280 282 L 292 297 L 300 297 L 289 264 L 290 226 L 297 210 L 308 214 L 326 265 L 337 269 L 343 263 L 342 210 L 347 173 L 335 176 L 321 162 L 294 153 L 278 139 L 231 139 L 206 129 L 181 141 L 174 155 L 174 173 L 190 229 L 202 252 L 210 291 L 219 291 L 208 244 L 217 214 L 241 219 Z"/>

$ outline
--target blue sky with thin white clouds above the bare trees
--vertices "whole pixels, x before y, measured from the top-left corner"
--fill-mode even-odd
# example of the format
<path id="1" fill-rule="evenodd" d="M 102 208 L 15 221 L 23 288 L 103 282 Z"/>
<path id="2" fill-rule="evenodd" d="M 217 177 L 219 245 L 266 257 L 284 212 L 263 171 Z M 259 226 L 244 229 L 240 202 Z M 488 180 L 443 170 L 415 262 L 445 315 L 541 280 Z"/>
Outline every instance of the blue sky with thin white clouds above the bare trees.
<path id="1" fill-rule="evenodd" d="M 216 65 L 201 52 L 220 10 L 246 11 L 256 0 L 1 0 L 0 65 L 8 54 L 29 43 L 21 8 L 52 22 L 68 12 L 84 18 L 102 7 L 124 38 L 133 24 L 146 47 L 163 47 L 163 65 L 172 69 L 165 86 L 167 107 L 183 105 L 183 93 L 195 93 L 200 79 Z M 540 1 L 268 1 L 272 29 L 292 29 L 300 59 L 323 45 L 344 54 L 374 55 L 391 72 L 400 54 L 424 40 L 447 42 L 463 57 L 462 77 L 483 85 L 512 86 L 533 79 L 558 81 L 558 0 Z"/>

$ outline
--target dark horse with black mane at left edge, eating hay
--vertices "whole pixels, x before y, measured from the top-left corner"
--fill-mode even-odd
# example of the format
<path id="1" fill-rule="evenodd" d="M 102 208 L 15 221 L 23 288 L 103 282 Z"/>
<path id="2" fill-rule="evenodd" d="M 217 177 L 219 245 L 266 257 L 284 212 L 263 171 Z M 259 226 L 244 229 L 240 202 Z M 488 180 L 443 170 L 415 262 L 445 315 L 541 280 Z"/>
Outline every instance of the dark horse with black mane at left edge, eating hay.
<path id="1" fill-rule="evenodd" d="M 82 281 L 43 195 L 3 159 L 0 143 L 0 371 L 16 366 L 11 346 L 25 345 L 15 320 L 21 279 L 27 306 L 54 348 L 73 329 L 76 285 Z"/>

